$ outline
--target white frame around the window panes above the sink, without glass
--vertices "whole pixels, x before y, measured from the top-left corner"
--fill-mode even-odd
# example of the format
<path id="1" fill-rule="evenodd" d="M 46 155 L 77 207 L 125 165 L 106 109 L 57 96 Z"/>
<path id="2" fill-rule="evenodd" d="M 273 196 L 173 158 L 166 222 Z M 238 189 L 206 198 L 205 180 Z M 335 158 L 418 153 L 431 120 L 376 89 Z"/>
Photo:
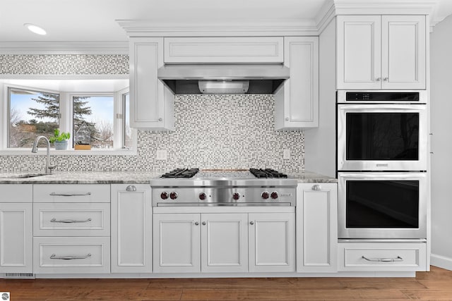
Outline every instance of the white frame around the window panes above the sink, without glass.
<path id="1" fill-rule="evenodd" d="M 83 80 L 90 80 L 88 78 L 84 78 Z M 71 96 L 112 96 L 114 101 L 114 141 L 113 141 L 113 149 L 91 149 L 91 150 L 75 150 L 72 147 L 72 143 L 68 145 L 68 149 L 66 150 L 55 150 L 51 149 L 53 154 L 69 154 L 69 155 L 136 155 L 137 154 L 137 130 L 133 128 L 133 140 L 132 147 L 129 149 L 123 148 L 121 141 L 123 140 L 123 131 L 124 128 L 121 129 L 123 124 L 123 102 L 122 95 L 129 93 L 129 87 L 114 91 L 114 92 L 64 92 L 57 90 L 47 90 L 41 89 L 39 87 L 29 87 L 24 85 L 14 85 L 8 82 L 0 82 L 0 124 L 3 127 L 3 130 L 0 130 L 0 154 L 27 154 L 31 155 L 31 149 L 27 148 L 14 148 L 8 147 L 8 138 L 9 138 L 9 114 L 10 114 L 10 99 L 9 99 L 9 88 L 13 89 L 23 89 L 23 90 L 32 90 L 37 92 L 49 92 L 59 94 L 59 129 L 64 132 L 73 133 L 73 125 L 72 125 L 72 97 Z M 38 152 L 45 152 L 45 149 L 42 147 L 38 149 Z"/>

